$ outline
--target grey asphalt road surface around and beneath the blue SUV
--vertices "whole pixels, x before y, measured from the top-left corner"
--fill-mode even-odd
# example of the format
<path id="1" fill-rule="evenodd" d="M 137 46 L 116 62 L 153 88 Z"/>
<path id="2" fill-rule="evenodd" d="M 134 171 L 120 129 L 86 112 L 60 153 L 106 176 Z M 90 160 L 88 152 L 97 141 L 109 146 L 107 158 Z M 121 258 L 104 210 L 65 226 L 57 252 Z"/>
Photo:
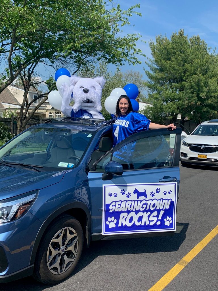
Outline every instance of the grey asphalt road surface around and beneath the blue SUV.
<path id="1" fill-rule="evenodd" d="M 0 291 L 148 291 L 218 225 L 218 168 L 180 168 L 177 230 L 173 237 L 93 242 L 66 281 L 46 286 L 28 277 L 1 284 Z M 217 269 L 218 235 L 175 278 L 170 278 L 164 290 L 217 291 Z"/>

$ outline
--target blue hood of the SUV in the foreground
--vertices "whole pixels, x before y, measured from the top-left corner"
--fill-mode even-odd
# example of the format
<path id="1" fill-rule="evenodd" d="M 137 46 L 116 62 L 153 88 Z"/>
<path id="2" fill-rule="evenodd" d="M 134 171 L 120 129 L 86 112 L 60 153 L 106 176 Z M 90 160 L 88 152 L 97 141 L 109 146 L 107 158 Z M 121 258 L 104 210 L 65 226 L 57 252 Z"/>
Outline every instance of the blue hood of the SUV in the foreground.
<path id="1" fill-rule="evenodd" d="M 60 182 L 66 171 L 36 172 L 0 166 L 0 200 Z"/>

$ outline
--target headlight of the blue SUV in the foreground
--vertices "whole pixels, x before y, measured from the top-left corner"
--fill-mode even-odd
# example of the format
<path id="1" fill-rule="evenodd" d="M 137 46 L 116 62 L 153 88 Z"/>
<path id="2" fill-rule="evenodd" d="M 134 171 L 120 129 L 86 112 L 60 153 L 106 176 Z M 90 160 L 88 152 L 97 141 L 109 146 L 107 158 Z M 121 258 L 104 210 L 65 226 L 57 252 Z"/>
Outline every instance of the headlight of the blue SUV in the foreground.
<path id="1" fill-rule="evenodd" d="M 22 217 L 33 205 L 38 190 L 0 201 L 0 224 Z"/>

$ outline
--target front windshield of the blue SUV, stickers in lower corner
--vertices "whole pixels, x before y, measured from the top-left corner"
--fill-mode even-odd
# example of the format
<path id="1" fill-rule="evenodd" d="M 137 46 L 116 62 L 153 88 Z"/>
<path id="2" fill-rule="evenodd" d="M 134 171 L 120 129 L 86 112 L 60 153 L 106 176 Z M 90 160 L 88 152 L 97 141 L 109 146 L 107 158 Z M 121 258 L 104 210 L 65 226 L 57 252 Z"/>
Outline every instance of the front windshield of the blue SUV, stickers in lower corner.
<path id="1" fill-rule="evenodd" d="M 73 168 L 93 137 L 93 132 L 86 129 L 58 125 L 32 127 L 0 150 L 0 162 L 49 167 L 55 171 Z"/>

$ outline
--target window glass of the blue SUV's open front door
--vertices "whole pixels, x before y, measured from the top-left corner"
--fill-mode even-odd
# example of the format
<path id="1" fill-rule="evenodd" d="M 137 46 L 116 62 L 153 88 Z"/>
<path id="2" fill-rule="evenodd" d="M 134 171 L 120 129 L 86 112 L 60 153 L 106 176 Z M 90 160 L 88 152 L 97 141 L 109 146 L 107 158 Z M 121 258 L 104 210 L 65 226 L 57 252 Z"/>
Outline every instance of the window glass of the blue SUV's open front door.
<path id="1" fill-rule="evenodd" d="M 124 170 L 171 166 L 175 137 L 149 136 L 133 141 L 113 153 L 112 161 L 123 165 Z"/>

